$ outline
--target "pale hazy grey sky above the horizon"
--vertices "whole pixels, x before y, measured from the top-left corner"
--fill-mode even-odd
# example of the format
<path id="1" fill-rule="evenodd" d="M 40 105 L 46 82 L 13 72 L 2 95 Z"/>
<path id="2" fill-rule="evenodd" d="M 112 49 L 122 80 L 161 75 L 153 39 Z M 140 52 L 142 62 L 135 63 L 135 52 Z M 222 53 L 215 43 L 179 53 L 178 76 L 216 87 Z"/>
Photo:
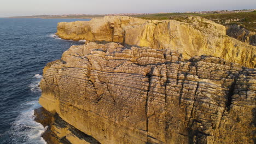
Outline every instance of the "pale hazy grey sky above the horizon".
<path id="1" fill-rule="evenodd" d="M 0 17 L 256 9 L 255 0 L 0 0 Z"/>

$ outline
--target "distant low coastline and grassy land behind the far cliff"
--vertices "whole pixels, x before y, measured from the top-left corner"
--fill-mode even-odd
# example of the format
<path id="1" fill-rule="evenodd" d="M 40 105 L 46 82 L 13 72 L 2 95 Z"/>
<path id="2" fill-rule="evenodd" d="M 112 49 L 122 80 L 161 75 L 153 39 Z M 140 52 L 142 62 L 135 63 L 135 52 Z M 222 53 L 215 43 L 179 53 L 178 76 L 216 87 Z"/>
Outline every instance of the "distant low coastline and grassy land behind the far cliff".
<path id="1" fill-rule="evenodd" d="M 11 18 L 43 18 L 43 19 L 91 19 L 104 17 L 105 15 L 36 15 L 36 16 L 18 16 Z M 147 20 L 169 20 L 180 21 L 187 16 L 201 16 L 205 19 L 212 20 L 222 25 L 237 24 L 245 27 L 249 31 L 256 32 L 256 11 L 247 13 L 230 13 L 230 14 L 196 14 L 196 13 L 164 13 L 164 14 L 142 14 L 131 15 Z"/>

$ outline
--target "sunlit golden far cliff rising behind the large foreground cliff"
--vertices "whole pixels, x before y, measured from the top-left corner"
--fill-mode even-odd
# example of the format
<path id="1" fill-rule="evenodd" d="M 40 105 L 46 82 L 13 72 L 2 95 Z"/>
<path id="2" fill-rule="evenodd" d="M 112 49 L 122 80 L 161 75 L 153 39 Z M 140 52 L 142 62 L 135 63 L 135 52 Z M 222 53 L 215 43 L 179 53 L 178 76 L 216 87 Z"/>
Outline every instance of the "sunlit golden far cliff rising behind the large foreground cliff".
<path id="1" fill-rule="evenodd" d="M 211 55 L 254 68 L 255 46 L 226 35 L 225 27 L 201 17 L 176 20 L 142 20 L 106 16 L 91 21 L 60 22 L 57 35 L 63 39 L 114 41 L 182 53 L 183 58 Z"/>

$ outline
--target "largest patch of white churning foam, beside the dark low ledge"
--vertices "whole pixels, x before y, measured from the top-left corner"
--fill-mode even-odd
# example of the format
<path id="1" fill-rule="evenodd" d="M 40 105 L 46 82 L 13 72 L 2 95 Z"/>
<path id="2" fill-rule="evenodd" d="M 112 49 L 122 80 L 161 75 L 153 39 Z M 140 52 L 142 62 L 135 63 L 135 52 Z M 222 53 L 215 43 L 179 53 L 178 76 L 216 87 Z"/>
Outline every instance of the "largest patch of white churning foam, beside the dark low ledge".
<path id="1" fill-rule="evenodd" d="M 46 144 L 41 135 L 46 130 L 42 124 L 34 121 L 34 109 L 39 107 L 38 101 L 30 101 L 21 105 L 22 107 L 29 107 L 24 111 L 21 111 L 20 115 L 16 118 L 11 125 L 12 138 L 16 139 L 16 143 L 25 141 L 24 143 L 38 143 Z M 22 140 L 21 140 L 22 139 Z"/>

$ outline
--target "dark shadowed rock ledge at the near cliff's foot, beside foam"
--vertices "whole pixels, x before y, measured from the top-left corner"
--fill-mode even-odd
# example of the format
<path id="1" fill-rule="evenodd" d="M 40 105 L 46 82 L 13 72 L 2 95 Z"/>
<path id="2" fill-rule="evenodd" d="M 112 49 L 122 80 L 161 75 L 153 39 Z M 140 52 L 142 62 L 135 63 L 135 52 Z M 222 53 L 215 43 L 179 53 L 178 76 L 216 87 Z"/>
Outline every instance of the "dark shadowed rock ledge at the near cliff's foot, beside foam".
<path id="1" fill-rule="evenodd" d="M 48 144 L 100 143 L 93 137 L 84 134 L 82 131 L 63 121 L 57 113 L 50 113 L 43 107 L 34 110 L 34 116 L 35 121 L 43 124 L 46 128 L 42 137 Z"/>

